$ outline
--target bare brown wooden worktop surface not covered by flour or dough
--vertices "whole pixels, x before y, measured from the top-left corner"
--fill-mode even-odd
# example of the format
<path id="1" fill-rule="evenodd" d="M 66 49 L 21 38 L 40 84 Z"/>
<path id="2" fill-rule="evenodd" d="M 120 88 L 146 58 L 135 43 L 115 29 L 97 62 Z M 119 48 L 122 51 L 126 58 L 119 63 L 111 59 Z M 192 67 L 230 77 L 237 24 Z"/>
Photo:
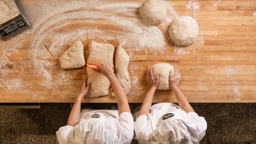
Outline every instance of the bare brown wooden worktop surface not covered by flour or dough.
<path id="1" fill-rule="evenodd" d="M 142 3 L 143 1 L 134 0 L 133 2 Z M 219 1 L 217 4 L 217 0 L 196 1 L 200 5 L 196 13 L 193 9 L 186 8 L 189 1 L 171 0 L 167 2 L 179 15 L 194 16 L 200 27 L 199 35 L 202 36 L 198 39 L 200 44 L 194 43 L 179 51 L 168 36 L 170 23 L 164 21 L 156 26 L 167 43 L 163 46 L 165 49 L 163 53 L 156 53 L 152 47 L 147 46 L 144 46 L 143 50 L 133 52 L 132 49 L 138 48 L 139 45 L 123 46 L 130 55 L 128 71 L 132 88 L 127 96 L 129 102 L 142 102 L 149 89 L 145 77 L 146 69 L 156 63 L 169 63 L 180 68 L 181 81 L 178 86 L 189 102 L 256 102 L 256 17 L 253 16 L 256 12 L 256 1 L 226 0 Z M 39 5 L 38 0 L 21 0 L 21 3 Z M 133 13 L 138 16 L 138 9 L 135 9 Z M 113 11 L 111 14 L 123 15 Z M 130 18 L 129 15 L 126 17 Z M 75 20 L 82 20 L 82 18 L 69 21 Z M 108 20 L 96 19 L 95 21 L 106 24 L 73 23 L 55 32 L 65 33 L 81 26 L 99 30 L 97 36 L 88 31 L 85 34 L 86 40 L 82 43 L 86 59 L 89 55 L 87 45 L 91 40 L 105 43 L 100 37 L 108 36 L 110 40 L 107 43 L 116 48 L 119 44 L 118 40 L 122 38 L 121 32 L 131 32 L 131 29 L 126 29 Z M 61 23 L 54 25 L 61 25 Z M 11 80 L 19 77 L 22 81 L 17 86 L 13 81 L 13 86 L 9 85 L 11 89 L 7 88 L 6 81 L 0 81 L 0 102 L 74 102 L 81 82 L 87 77 L 86 67 L 64 70 L 63 75 L 60 75 L 58 58 L 69 45 L 63 45 L 61 50 L 53 54 L 49 49 L 54 35 L 49 35 L 42 44 L 52 57 L 43 60 L 45 70 L 51 72 L 51 79 L 47 81 L 43 77 L 46 73 L 35 73 L 35 70 L 42 70 L 40 67 L 32 69 L 28 64 L 31 62 L 29 47 L 33 37 L 34 35 L 26 36 L 22 47 L 11 52 L 8 59 L 12 63 L 0 64 L 2 72 L 13 71 L 11 75 L 2 75 L 1 80 L 10 83 Z M 1 43 L 3 42 L 0 41 L 0 48 L 3 48 Z M 6 52 L 0 50 L 0 55 L 4 54 Z M 47 65 L 47 63 L 51 64 Z M 49 84 L 51 86 L 48 86 Z M 111 96 L 112 92 L 113 89 L 110 87 L 107 96 L 86 98 L 83 102 L 116 102 L 115 97 Z M 177 101 L 171 90 L 157 90 L 153 102 Z"/>

